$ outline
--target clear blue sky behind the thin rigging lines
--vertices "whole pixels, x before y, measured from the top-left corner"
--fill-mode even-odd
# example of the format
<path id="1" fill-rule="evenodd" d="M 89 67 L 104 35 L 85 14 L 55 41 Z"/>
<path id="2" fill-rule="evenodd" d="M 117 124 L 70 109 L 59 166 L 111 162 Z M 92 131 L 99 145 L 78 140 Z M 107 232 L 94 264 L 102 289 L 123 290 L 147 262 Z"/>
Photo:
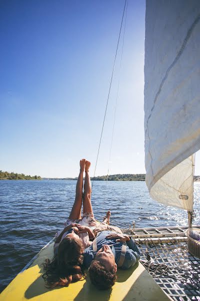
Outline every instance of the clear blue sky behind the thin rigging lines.
<path id="1" fill-rule="evenodd" d="M 93 174 L 124 1 L 0 2 L 0 169 L 75 177 Z M 145 2 L 128 2 L 96 175 L 145 173 Z"/>

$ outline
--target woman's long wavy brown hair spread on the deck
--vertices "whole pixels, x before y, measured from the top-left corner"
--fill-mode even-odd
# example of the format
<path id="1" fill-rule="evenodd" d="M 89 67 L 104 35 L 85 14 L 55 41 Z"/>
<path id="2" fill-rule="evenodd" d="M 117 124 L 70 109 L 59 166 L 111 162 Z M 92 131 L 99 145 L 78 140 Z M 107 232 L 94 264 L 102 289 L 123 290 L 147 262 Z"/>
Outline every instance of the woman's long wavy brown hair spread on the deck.
<path id="1" fill-rule="evenodd" d="M 58 253 L 50 261 L 45 260 L 42 275 L 48 288 L 68 286 L 84 277 L 82 269 L 83 246 L 81 241 L 65 237 L 59 244 Z"/>

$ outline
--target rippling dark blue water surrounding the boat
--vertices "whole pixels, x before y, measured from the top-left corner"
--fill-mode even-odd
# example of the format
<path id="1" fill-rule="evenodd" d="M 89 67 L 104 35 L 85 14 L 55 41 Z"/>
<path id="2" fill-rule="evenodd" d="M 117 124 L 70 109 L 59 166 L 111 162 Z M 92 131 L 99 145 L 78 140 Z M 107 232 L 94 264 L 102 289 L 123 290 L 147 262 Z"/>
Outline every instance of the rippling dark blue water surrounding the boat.
<path id="1" fill-rule="evenodd" d="M 0 181 L 0 291 L 63 227 L 75 185 L 61 180 Z M 194 224 L 200 224 L 199 182 L 194 183 L 194 198 Z M 121 228 L 133 221 L 136 227 L 187 225 L 184 210 L 168 207 L 155 214 L 165 206 L 150 199 L 145 182 L 110 181 L 106 186 L 95 181 L 92 206 L 97 220 L 111 209 L 111 223 Z"/>

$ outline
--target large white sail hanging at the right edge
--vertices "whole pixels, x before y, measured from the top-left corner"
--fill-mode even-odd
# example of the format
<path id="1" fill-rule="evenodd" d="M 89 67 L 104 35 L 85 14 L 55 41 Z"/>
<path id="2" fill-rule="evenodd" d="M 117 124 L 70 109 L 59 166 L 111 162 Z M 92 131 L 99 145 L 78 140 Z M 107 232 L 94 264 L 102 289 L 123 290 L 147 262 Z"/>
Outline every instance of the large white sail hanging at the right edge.
<path id="1" fill-rule="evenodd" d="M 146 185 L 156 201 L 192 210 L 200 148 L 200 1 L 147 0 L 144 130 Z"/>

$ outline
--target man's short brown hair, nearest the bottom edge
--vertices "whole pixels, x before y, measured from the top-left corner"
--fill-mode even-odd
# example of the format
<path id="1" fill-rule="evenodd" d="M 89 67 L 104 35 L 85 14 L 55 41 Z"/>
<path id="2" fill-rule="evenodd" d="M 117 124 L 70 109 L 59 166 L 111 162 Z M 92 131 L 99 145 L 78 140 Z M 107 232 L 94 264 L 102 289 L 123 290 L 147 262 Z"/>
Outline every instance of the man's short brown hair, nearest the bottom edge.
<path id="1" fill-rule="evenodd" d="M 114 266 L 113 269 L 107 270 L 99 261 L 92 260 L 88 271 L 91 283 L 99 289 L 111 288 L 116 281 Z"/>

